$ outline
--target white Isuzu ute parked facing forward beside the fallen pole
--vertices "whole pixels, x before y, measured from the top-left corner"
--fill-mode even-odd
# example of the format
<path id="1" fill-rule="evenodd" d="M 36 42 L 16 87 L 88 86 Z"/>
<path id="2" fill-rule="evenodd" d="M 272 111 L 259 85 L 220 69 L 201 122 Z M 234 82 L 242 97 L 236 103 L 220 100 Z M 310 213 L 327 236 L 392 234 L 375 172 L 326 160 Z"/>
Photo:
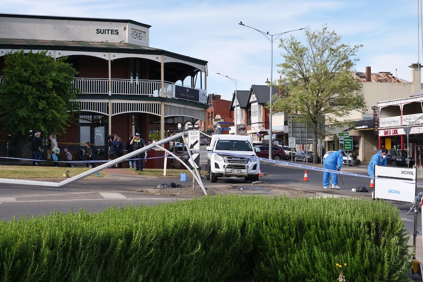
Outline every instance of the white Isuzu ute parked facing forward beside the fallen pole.
<path id="1" fill-rule="evenodd" d="M 246 135 L 215 134 L 206 148 L 209 176 L 212 182 L 218 177 L 243 177 L 246 181 L 259 180 L 260 161 L 253 148 L 253 139 Z M 250 158 L 252 156 L 254 158 Z"/>

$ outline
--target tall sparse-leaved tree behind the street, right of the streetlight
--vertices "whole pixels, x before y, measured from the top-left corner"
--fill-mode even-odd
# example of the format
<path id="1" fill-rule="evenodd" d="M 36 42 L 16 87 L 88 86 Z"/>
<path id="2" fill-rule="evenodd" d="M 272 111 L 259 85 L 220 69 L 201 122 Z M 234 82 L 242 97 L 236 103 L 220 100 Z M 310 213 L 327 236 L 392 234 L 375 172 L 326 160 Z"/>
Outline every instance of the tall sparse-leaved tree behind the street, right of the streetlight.
<path id="1" fill-rule="evenodd" d="M 358 60 L 356 52 L 362 46 L 342 44 L 341 36 L 329 32 L 327 26 L 316 31 L 308 27 L 304 33 L 306 44 L 292 36 L 280 40 L 279 47 L 285 52 L 278 72 L 286 88 L 273 107 L 275 112 L 296 113 L 296 122 L 313 127 L 313 162 L 317 163 L 317 139 L 325 134 L 319 132 L 325 120 L 334 126 L 348 124 L 353 110 L 366 109 L 364 97 L 357 94 L 361 85 L 351 73 Z"/>

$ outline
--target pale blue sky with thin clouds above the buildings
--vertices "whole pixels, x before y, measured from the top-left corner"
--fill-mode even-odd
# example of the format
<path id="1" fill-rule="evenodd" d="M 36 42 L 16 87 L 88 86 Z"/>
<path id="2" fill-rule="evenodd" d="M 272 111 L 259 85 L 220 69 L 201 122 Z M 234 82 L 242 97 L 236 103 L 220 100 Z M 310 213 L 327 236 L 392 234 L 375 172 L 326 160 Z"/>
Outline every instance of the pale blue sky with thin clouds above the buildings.
<path id="1" fill-rule="evenodd" d="M 150 47 L 208 61 L 207 93 L 231 100 L 235 88 L 249 90 L 252 84 L 264 85 L 270 79 L 271 57 L 272 78 L 279 78 L 277 65 L 283 62 L 279 38 L 293 36 L 305 44 L 304 31 L 292 31 L 274 40 L 271 54 L 270 40 L 246 26 L 279 34 L 304 27 L 321 30 L 327 25 L 342 37 L 340 43 L 363 45 L 353 71 L 365 73 L 369 66 L 372 73 L 390 72 L 411 81 L 408 66 L 423 57 L 419 2 L 0 0 L 0 13 L 132 20 L 150 25 Z"/>

